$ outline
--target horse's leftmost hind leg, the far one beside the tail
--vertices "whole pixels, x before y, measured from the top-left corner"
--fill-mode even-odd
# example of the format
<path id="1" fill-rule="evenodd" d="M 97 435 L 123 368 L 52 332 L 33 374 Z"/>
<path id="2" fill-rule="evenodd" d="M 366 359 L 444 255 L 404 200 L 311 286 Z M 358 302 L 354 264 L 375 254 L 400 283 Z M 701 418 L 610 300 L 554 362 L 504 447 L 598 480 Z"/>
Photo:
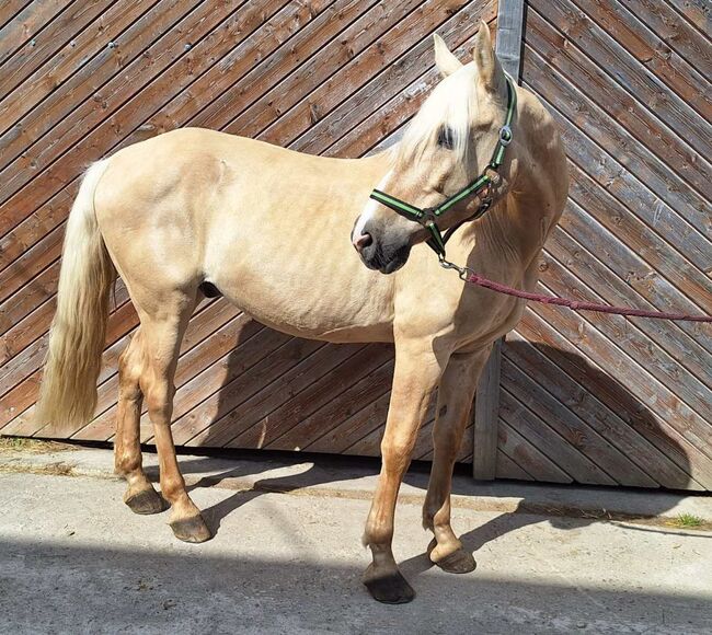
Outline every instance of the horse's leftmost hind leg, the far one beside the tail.
<path id="1" fill-rule="evenodd" d="M 141 464 L 139 422 L 143 393 L 139 380 L 143 357 L 139 328 L 118 360 L 114 463 L 116 472 L 128 483 L 124 503 L 136 513 L 157 513 L 163 511 L 166 505 L 153 489 Z"/>

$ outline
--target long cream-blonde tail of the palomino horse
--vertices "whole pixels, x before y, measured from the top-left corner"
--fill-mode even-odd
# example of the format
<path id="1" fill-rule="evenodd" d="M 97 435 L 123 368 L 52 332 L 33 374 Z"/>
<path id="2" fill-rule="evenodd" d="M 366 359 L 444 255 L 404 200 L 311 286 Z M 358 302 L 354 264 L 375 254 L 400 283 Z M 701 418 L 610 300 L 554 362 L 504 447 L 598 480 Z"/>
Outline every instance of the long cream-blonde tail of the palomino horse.
<path id="1" fill-rule="evenodd" d="M 35 409 L 36 423 L 58 437 L 89 422 L 96 407 L 108 297 L 116 278 L 94 210 L 94 190 L 107 164 L 99 161 L 87 171 L 65 233 L 57 311 Z"/>

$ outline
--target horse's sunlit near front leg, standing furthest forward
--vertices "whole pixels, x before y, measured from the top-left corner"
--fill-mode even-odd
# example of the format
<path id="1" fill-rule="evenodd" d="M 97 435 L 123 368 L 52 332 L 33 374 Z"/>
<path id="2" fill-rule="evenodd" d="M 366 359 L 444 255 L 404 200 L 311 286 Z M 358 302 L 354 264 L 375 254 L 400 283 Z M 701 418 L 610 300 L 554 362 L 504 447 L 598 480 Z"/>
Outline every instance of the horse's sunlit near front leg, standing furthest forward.
<path id="1" fill-rule="evenodd" d="M 371 550 L 372 563 L 363 581 L 379 602 L 397 604 L 410 602 L 415 597 L 393 557 L 393 516 L 418 428 L 444 366 L 443 359 L 433 351 L 432 340 L 397 339 L 393 389 L 381 442 L 381 473 L 364 533 L 364 544 Z"/>

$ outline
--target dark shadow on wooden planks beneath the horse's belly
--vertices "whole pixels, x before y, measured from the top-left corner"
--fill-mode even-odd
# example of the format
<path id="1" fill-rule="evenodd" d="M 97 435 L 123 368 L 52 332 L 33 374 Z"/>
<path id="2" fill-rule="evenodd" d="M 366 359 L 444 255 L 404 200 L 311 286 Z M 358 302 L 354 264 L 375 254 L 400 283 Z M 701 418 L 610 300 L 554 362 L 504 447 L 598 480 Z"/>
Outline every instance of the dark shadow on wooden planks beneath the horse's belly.
<path id="1" fill-rule="evenodd" d="M 215 414 L 191 444 L 377 457 L 392 372 L 389 344 L 242 328 Z"/>

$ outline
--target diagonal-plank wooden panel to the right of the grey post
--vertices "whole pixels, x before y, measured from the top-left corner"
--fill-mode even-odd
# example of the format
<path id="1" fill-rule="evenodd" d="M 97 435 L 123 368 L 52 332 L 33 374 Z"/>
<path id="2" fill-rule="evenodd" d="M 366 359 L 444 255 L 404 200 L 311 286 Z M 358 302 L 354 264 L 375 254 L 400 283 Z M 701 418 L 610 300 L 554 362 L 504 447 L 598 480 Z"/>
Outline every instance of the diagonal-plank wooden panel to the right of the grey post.
<path id="1" fill-rule="evenodd" d="M 521 80 L 571 193 L 542 292 L 712 313 L 712 57 L 702 3 L 529 0 Z M 532 305 L 502 356 L 497 477 L 712 488 L 709 325 Z"/>

